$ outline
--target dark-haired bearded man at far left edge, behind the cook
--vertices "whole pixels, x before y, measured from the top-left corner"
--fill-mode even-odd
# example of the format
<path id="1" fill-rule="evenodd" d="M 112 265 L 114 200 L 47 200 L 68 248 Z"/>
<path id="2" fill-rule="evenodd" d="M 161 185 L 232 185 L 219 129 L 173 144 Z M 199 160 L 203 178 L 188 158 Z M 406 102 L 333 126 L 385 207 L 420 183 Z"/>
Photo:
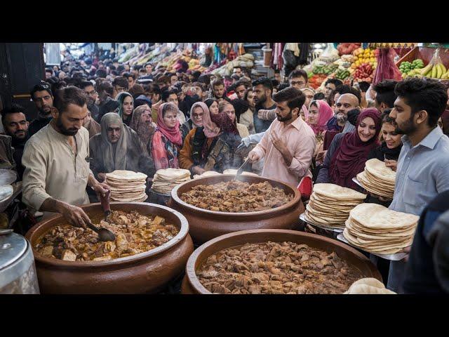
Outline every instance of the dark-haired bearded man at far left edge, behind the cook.
<path id="1" fill-rule="evenodd" d="M 28 122 L 24 113 L 25 109 L 18 104 L 4 109 L 1 112 L 1 124 L 3 124 L 7 136 L 11 136 L 12 156 L 19 180 L 22 180 L 25 167 L 22 165 L 22 154 L 25 143 L 28 140 Z"/>

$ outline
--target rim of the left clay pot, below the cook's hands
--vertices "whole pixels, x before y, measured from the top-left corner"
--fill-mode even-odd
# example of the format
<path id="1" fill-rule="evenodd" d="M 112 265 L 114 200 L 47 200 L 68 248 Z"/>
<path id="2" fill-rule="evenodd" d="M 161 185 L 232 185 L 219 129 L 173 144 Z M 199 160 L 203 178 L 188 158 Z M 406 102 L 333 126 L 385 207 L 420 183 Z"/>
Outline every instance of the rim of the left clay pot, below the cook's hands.
<path id="1" fill-rule="evenodd" d="M 174 209 L 170 209 L 167 206 L 162 206 L 162 205 L 158 205 L 158 204 L 150 204 L 147 202 L 123 202 L 123 201 L 112 201 L 110 203 L 111 205 L 114 204 L 140 204 L 143 206 L 153 206 L 159 209 L 165 209 L 166 211 L 169 211 L 170 213 L 173 213 L 175 216 L 177 216 L 177 218 L 180 219 L 181 222 L 181 227 L 180 227 L 180 232 L 178 232 L 175 237 L 173 237 L 173 239 L 171 239 L 170 241 L 166 242 L 165 244 L 162 244 L 159 247 L 156 247 L 154 249 L 151 249 L 149 251 L 144 251 L 143 253 L 138 253 L 132 256 L 126 256 L 124 258 L 114 258 L 112 260 L 104 260 L 104 261 L 65 261 L 65 260 L 60 260 L 57 258 L 47 258 L 45 256 L 42 256 L 40 253 L 38 253 L 35 249 L 34 249 L 34 244 L 32 243 L 32 236 L 34 235 L 34 233 L 39 230 L 39 228 L 41 228 L 43 225 L 46 225 L 46 223 L 55 220 L 56 218 L 62 218 L 61 214 L 52 216 L 51 218 L 48 218 L 46 220 L 43 220 L 39 223 L 36 223 L 36 225 L 34 225 L 25 235 L 25 238 L 27 238 L 29 240 L 29 242 L 31 243 L 30 246 L 32 246 L 32 251 L 33 251 L 33 255 L 34 255 L 34 259 L 36 261 L 39 261 L 39 263 L 44 263 L 46 265 L 53 265 L 53 266 L 58 266 L 58 267 L 105 267 L 105 266 L 109 266 L 109 265 L 126 265 L 128 263 L 135 263 L 137 261 L 143 260 L 143 259 L 147 259 L 149 257 L 152 256 L 156 256 L 159 255 L 160 253 L 163 253 L 164 251 L 168 251 L 169 249 L 172 249 L 173 246 L 176 246 L 178 243 L 182 242 L 182 240 L 184 240 L 187 237 L 187 234 L 189 234 L 189 222 L 187 221 L 187 218 L 185 218 L 185 216 L 183 216 L 180 212 L 175 211 Z M 101 204 L 99 202 L 97 203 L 93 203 L 93 204 L 86 204 L 86 205 L 82 205 L 80 206 L 81 209 L 85 209 L 88 206 L 100 206 Z"/>

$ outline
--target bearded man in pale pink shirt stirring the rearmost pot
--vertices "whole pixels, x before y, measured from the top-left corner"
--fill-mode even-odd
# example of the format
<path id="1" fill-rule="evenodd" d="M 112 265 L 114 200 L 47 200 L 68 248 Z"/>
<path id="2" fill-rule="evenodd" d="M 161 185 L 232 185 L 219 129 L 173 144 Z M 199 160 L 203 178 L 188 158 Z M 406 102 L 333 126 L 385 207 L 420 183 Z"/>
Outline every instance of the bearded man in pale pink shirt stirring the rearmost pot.
<path id="1" fill-rule="evenodd" d="M 314 154 L 314 131 L 300 118 L 305 95 L 288 87 L 275 95 L 276 117 L 262 140 L 248 154 L 250 161 L 264 160 L 262 177 L 274 178 L 297 187 L 304 176 L 311 178 L 309 166 Z"/>

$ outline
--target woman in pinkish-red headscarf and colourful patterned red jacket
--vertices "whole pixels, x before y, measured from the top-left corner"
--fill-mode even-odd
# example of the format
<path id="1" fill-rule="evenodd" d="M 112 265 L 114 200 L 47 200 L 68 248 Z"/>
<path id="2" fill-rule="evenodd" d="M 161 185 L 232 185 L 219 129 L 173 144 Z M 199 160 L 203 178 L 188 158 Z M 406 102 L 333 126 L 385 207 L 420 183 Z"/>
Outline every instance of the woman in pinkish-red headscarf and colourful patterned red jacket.
<path id="1" fill-rule="evenodd" d="M 179 169 L 177 156 L 182 147 L 179 109 L 174 103 L 163 103 L 157 113 L 157 128 L 154 132 L 149 153 L 152 154 L 156 171 L 160 169 Z"/>

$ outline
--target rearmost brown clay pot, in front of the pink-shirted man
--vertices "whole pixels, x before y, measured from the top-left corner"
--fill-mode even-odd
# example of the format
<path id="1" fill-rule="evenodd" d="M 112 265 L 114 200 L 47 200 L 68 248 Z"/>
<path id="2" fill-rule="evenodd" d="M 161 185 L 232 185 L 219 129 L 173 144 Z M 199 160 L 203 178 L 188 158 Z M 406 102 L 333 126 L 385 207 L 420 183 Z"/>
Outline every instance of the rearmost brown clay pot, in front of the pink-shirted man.
<path id="1" fill-rule="evenodd" d="M 189 192 L 196 185 L 213 185 L 234 178 L 234 175 L 208 176 L 182 183 L 171 191 L 172 201 L 170 206 L 182 213 L 189 221 L 189 234 L 195 244 L 203 244 L 214 237 L 240 230 L 264 228 L 293 230 L 299 225 L 299 216 L 304 212 L 301 193 L 295 187 L 279 180 L 257 176 L 241 176 L 239 178 L 239 180 L 248 183 L 268 181 L 272 186 L 279 187 L 288 194 L 293 194 L 293 200 L 288 204 L 276 207 L 276 209 L 248 213 L 217 212 L 200 209 L 180 199 L 182 193 Z"/>

